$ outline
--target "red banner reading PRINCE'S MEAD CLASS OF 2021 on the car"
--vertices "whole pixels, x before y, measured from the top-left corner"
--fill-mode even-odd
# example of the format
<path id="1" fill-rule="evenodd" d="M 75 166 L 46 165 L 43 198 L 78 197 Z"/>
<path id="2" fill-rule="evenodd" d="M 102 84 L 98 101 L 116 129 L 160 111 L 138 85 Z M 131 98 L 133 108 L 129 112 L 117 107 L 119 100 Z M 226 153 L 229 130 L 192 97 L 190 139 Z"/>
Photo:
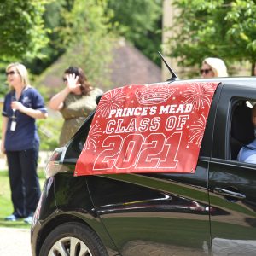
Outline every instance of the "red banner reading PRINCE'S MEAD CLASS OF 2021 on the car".
<path id="1" fill-rule="evenodd" d="M 96 108 L 74 175 L 194 173 L 218 83 L 127 85 Z"/>

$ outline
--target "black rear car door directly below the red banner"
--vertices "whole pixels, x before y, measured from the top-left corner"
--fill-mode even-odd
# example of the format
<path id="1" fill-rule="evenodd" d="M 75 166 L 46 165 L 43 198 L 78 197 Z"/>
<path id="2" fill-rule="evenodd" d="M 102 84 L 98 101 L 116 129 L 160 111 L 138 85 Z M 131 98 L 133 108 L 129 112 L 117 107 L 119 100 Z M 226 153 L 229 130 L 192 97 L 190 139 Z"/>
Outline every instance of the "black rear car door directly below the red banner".
<path id="1" fill-rule="evenodd" d="M 87 178 L 96 212 L 121 255 L 211 255 L 208 161 L 194 174 Z"/>

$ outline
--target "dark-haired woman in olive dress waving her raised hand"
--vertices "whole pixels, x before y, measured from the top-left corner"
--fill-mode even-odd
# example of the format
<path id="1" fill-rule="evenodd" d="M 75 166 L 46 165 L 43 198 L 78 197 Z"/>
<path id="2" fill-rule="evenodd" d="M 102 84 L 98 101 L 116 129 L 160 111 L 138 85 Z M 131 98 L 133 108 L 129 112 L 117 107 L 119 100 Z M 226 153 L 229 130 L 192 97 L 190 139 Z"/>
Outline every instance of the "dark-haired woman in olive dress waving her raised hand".
<path id="1" fill-rule="evenodd" d="M 63 82 L 64 89 L 49 101 L 49 108 L 60 111 L 64 118 L 60 146 L 78 131 L 84 119 L 96 108 L 96 96 L 102 95 L 101 89 L 90 85 L 80 67 L 68 67 L 64 71 Z"/>

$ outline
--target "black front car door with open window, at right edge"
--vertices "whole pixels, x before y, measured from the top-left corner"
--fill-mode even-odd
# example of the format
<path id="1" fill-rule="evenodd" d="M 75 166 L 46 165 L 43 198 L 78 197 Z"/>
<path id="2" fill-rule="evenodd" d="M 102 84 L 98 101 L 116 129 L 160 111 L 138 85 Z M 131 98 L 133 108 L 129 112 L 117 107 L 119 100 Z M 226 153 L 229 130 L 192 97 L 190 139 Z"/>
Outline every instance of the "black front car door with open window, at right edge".
<path id="1" fill-rule="evenodd" d="M 213 255 L 242 256 L 255 255 L 256 252 L 256 166 L 238 162 L 232 156 L 236 147 L 232 141 L 236 139 L 232 135 L 235 129 L 232 122 L 235 119 L 234 108 L 245 102 L 256 102 L 255 90 L 246 85 L 224 86 L 218 104 L 209 164 Z M 242 120 L 247 115 L 247 111 L 243 111 L 236 125 L 240 125 L 240 137 L 246 144 L 245 137 L 252 131 L 249 131 L 250 123 Z"/>

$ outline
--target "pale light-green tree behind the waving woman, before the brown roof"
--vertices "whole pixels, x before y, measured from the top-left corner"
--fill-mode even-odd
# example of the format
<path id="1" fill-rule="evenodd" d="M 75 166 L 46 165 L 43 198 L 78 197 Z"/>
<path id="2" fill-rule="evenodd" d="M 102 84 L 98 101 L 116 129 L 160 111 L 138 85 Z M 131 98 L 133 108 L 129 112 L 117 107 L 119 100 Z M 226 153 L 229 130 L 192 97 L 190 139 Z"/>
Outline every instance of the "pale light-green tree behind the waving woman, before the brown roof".
<path id="1" fill-rule="evenodd" d="M 38 76 L 35 84 L 45 96 L 52 96 L 59 89 L 56 86 L 44 86 L 44 78 L 52 75 L 61 77 L 68 66 L 77 66 L 84 69 L 91 84 L 108 88 L 111 82 L 108 64 L 112 61 L 115 37 L 109 22 L 107 0 L 61 2 L 66 4 L 56 9 L 61 14 L 61 22 L 55 27 L 54 32 L 58 37 L 54 43 L 56 49 L 62 47 L 63 52 L 54 66 L 46 68 Z"/>

